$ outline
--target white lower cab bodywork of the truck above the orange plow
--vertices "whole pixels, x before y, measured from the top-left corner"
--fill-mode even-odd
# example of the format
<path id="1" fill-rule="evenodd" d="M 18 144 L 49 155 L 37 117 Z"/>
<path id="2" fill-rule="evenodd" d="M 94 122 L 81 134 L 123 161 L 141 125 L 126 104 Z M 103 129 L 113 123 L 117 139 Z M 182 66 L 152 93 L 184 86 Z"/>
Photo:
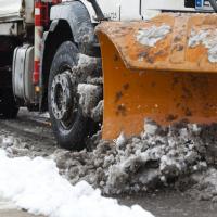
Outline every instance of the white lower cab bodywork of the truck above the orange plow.
<path id="1" fill-rule="evenodd" d="M 90 3 L 82 1 L 94 21 L 94 11 L 92 10 Z M 197 1 L 199 2 L 199 1 Z M 102 9 L 104 15 L 114 21 L 132 21 L 142 20 L 151 17 L 162 11 L 182 11 L 182 12 L 194 12 L 195 11 L 195 0 L 98 0 L 100 8 Z M 206 5 L 207 10 L 212 10 L 207 1 L 197 9 L 202 9 Z M 205 8 L 204 8 L 205 9 Z"/>

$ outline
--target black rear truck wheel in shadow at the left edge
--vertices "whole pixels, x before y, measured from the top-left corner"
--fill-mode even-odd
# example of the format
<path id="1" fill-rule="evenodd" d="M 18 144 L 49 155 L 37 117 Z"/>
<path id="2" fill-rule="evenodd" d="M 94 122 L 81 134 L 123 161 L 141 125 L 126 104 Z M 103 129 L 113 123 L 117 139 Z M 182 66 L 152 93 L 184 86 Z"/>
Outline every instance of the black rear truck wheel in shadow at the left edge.
<path id="1" fill-rule="evenodd" d="M 16 118 L 18 106 L 11 89 L 0 90 L 0 118 Z"/>

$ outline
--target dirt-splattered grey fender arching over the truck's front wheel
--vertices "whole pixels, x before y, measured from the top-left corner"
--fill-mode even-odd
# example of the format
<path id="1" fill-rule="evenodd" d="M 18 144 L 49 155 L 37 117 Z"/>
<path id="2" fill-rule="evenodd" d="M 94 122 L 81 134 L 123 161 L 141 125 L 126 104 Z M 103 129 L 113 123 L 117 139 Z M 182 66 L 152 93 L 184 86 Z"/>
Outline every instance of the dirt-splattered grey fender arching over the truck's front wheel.
<path id="1" fill-rule="evenodd" d="M 94 25 L 86 5 L 80 1 L 65 2 L 52 7 L 51 25 L 43 34 L 40 73 L 40 111 L 48 110 L 48 79 L 50 67 L 60 44 L 72 40 L 80 53 L 100 56 L 100 48 L 94 34 Z"/>

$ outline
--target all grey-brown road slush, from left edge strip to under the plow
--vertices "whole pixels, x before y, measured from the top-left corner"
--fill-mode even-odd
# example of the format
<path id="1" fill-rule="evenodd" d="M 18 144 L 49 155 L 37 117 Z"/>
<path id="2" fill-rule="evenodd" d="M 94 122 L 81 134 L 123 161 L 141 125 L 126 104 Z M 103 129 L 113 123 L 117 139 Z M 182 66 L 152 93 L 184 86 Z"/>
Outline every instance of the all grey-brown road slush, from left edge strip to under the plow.
<path id="1" fill-rule="evenodd" d="M 122 133 L 101 140 L 101 131 L 88 140 L 87 150 L 66 150 L 30 144 L 0 136 L 10 156 L 41 155 L 56 162 L 60 174 L 73 184 L 86 181 L 103 194 L 141 193 L 176 188 L 200 200 L 217 201 L 217 125 L 181 122 L 159 127 L 145 120 L 145 131 L 133 138 Z M 34 145 L 35 146 L 35 145 Z M 47 153 L 47 155 L 46 155 Z"/>

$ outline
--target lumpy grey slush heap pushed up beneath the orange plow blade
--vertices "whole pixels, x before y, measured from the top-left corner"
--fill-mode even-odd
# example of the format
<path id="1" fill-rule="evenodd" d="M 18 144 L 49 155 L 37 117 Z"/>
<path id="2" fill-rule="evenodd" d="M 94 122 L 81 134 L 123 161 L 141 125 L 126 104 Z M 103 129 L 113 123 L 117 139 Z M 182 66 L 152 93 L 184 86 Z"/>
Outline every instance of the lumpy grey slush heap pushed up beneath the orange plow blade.
<path id="1" fill-rule="evenodd" d="M 190 183 L 191 175 L 203 174 L 214 165 L 216 125 L 183 122 L 164 128 L 146 120 L 145 129 L 130 139 L 120 135 L 115 143 L 99 141 L 95 136 L 92 152 L 58 150 L 52 157 L 73 184 L 86 180 L 105 194 L 174 186 L 183 178 Z"/>

